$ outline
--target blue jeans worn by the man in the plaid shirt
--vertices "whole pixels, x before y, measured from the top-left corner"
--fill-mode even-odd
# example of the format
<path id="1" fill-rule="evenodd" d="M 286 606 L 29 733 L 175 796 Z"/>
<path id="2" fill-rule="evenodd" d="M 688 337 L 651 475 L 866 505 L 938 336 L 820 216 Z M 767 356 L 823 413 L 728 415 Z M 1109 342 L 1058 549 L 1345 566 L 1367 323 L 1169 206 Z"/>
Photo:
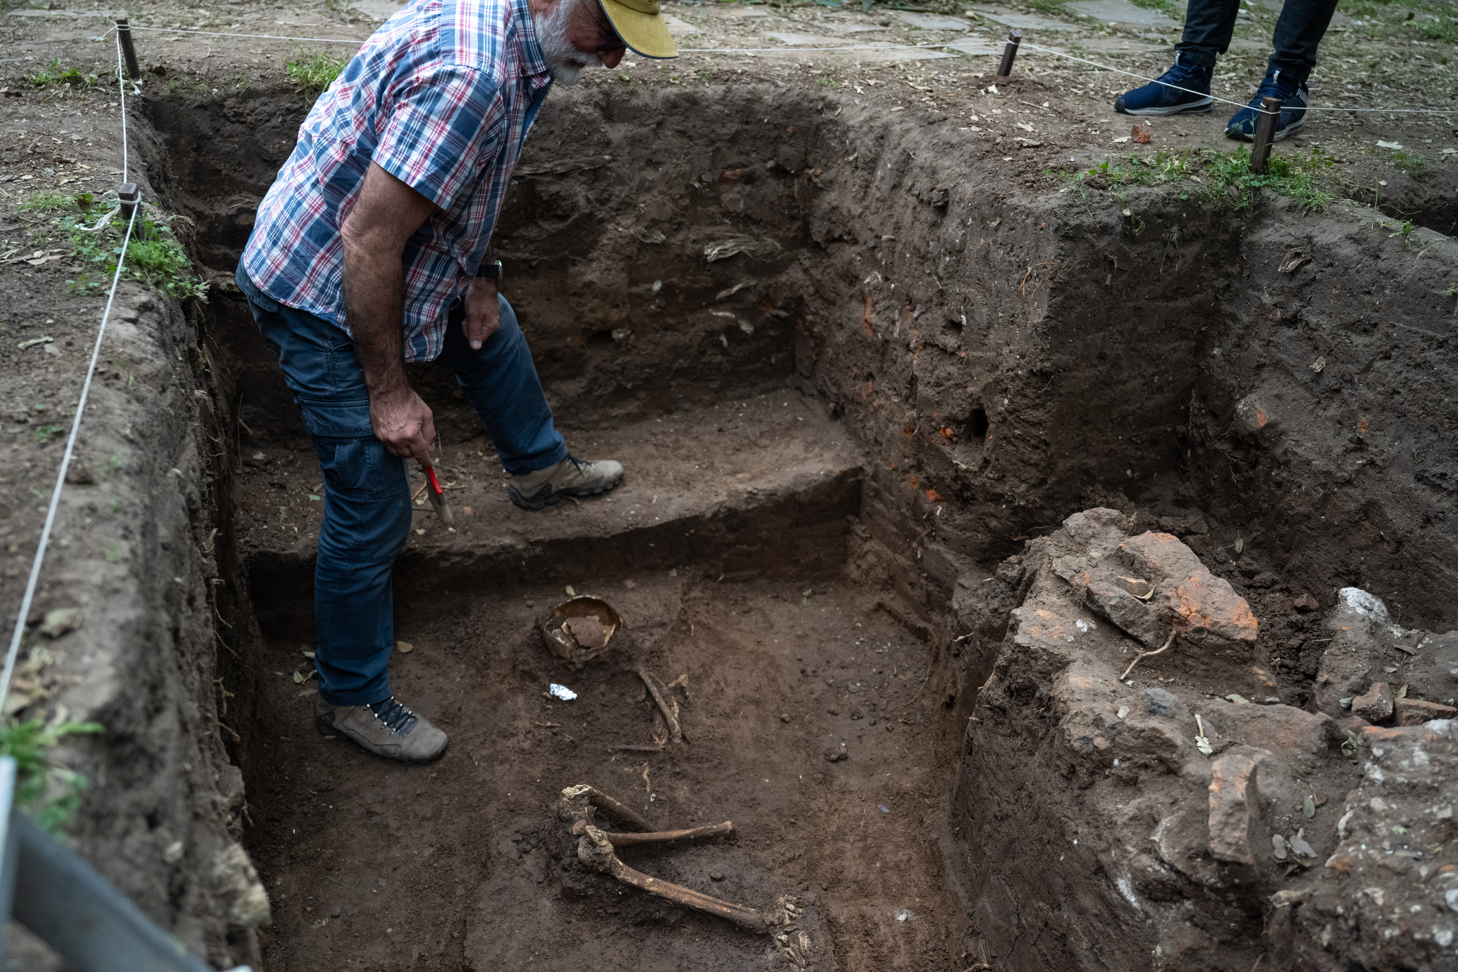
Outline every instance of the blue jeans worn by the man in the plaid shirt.
<path id="1" fill-rule="evenodd" d="M 324 526 L 313 568 L 313 618 L 319 647 L 319 698 L 364 705 L 389 697 L 386 663 L 395 647 L 391 568 L 410 535 L 410 477 L 405 459 L 385 452 L 369 424 L 369 392 L 354 342 L 312 313 L 271 300 L 239 268 L 238 286 L 303 412 L 324 471 Z M 553 427 L 526 338 L 500 299 L 502 326 L 472 351 L 451 307 L 436 364 L 456 373 L 496 443 L 502 465 L 516 475 L 545 469 L 567 456 Z"/>

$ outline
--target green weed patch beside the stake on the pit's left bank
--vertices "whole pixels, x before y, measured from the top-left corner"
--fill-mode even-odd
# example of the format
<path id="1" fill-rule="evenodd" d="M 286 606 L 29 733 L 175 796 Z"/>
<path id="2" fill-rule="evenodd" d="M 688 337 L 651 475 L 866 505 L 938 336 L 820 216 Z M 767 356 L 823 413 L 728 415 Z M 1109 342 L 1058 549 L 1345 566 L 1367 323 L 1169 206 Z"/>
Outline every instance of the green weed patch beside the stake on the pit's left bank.
<path id="1" fill-rule="evenodd" d="M 207 284 L 192 271 L 192 261 L 172 230 L 172 223 L 178 219 L 182 217 L 159 213 L 153 207 L 144 207 L 139 213 L 122 262 L 122 278 L 149 284 L 178 300 L 187 297 L 207 300 Z M 117 273 L 117 258 L 121 255 L 121 239 L 125 233 L 121 219 L 109 220 L 96 232 L 87 232 L 83 222 L 74 216 L 63 217 L 58 226 L 71 243 L 71 255 L 90 268 L 89 273 L 67 281 L 71 291 L 89 293 L 109 281 Z M 95 280 L 92 273 L 96 274 Z"/>

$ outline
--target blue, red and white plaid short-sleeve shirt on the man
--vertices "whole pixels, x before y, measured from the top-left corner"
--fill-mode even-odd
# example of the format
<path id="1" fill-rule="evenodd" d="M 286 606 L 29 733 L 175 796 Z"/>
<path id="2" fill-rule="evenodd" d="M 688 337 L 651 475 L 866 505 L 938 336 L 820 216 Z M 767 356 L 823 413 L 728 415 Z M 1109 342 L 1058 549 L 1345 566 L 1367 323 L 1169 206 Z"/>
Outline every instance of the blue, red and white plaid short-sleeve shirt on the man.
<path id="1" fill-rule="evenodd" d="M 550 86 L 525 0 L 416 0 L 315 102 L 258 205 L 243 270 L 348 331 L 340 226 L 375 162 L 436 204 L 402 256 L 405 360 L 436 358 Z"/>

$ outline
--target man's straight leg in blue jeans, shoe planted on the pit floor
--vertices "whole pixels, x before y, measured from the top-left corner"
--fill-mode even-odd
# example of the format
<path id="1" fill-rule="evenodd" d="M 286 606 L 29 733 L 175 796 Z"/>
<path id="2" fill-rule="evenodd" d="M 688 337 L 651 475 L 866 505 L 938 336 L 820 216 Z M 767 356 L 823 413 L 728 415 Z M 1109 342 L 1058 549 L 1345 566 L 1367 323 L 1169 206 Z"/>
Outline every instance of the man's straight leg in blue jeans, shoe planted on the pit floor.
<path id="1" fill-rule="evenodd" d="M 394 701 L 388 672 L 395 644 L 391 570 L 411 523 L 405 460 L 375 439 L 348 334 L 268 300 L 245 278 L 239 286 L 278 353 L 324 472 L 313 574 L 315 721 L 388 759 L 427 762 L 445 752 L 445 733 Z"/>

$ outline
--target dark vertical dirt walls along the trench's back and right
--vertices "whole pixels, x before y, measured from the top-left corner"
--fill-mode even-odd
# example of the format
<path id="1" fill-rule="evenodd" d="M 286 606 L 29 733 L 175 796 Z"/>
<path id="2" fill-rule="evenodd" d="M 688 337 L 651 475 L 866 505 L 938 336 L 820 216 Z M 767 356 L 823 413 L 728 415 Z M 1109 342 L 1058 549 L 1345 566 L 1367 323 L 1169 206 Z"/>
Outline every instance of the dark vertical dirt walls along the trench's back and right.
<path id="1" fill-rule="evenodd" d="M 249 92 L 149 109 L 159 188 L 198 219 L 217 274 L 225 398 L 302 444 L 227 275 L 303 106 Z M 965 592 L 1086 506 L 1198 510 L 1200 544 L 1232 565 L 1327 605 L 1362 586 L 1407 624 L 1451 627 L 1454 243 L 1388 239 L 1350 204 L 1267 200 L 1241 219 L 1172 191 L 1035 195 L 954 125 L 872 127 L 851 102 L 768 86 L 554 95 L 496 240 L 554 405 L 608 426 L 709 393 L 818 395 L 872 458 L 851 561 L 913 628 L 977 632 L 937 654 L 962 716 L 1024 596 L 1018 577 Z M 735 236 L 777 249 L 706 261 Z M 437 415 L 448 436 L 474 426 L 459 404 Z M 983 750 L 971 783 L 1019 745 Z M 997 895 L 1022 914 L 1034 892 L 965 867 L 958 826 L 939 836 L 968 914 Z"/>

